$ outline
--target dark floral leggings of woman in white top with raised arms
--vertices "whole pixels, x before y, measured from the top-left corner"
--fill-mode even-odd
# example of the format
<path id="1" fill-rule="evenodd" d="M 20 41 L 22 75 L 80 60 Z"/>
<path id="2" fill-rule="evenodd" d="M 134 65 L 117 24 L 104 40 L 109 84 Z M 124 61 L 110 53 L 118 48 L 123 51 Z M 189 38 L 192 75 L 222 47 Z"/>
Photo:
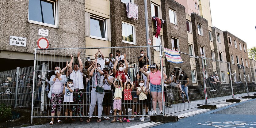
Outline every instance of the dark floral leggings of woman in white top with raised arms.
<path id="1" fill-rule="evenodd" d="M 75 106 L 73 106 L 73 115 L 83 116 L 83 93 L 84 89 L 75 88 L 73 100 L 75 101 Z M 76 110 L 77 109 L 77 110 Z"/>

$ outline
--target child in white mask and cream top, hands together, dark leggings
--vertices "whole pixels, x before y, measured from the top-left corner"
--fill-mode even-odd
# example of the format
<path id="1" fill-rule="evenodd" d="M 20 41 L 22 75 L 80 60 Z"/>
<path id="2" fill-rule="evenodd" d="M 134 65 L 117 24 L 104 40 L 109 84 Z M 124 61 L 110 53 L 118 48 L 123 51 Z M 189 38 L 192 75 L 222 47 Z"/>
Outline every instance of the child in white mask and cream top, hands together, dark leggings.
<path id="1" fill-rule="evenodd" d="M 137 96 L 139 96 L 140 115 L 143 115 L 143 104 L 146 103 L 146 99 L 147 99 L 147 89 L 144 86 L 143 79 L 139 80 L 139 87 L 137 87 L 136 90 L 137 90 Z M 144 121 L 144 116 L 141 116 L 139 120 Z"/>

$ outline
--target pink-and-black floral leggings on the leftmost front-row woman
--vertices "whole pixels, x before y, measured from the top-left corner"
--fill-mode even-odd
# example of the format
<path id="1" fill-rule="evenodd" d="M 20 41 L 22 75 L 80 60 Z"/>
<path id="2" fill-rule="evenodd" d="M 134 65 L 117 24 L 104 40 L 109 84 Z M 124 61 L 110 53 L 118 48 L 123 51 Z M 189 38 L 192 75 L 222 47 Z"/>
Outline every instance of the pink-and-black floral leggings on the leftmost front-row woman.
<path id="1" fill-rule="evenodd" d="M 51 108 L 51 113 L 55 113 L 55 109 L 58 105 L 58 108 L 57 110 L 58 111 L 61 111 L 62 109 L 62 101 L 63 101 L 63 93 L 52 93 L 52 96 L 51 96 L 51 102 L 52 102 L 52 108 Z"/>

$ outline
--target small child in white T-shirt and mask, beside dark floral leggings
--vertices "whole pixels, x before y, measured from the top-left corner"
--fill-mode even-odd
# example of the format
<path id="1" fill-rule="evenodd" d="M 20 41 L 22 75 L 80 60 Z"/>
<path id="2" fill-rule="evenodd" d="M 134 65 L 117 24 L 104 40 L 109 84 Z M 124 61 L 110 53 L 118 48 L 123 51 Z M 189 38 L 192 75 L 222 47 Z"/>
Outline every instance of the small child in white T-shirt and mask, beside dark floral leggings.
<path id="1" fill-rule="evenodd" d="M 67 80 L 67 86 L 64 83 L 64 88 L 63 88 L 63 94 L 64 94 L 64 100 L 63 100 L 63 107 L 65 111 L 65 116 L 68 116 L 68 111 L 69 111 L 69 116 L 72 116 L 72 104 L 73 104 L 73 92 L 74 92 L 74 87 L 73 86 L 73 80 L 68 79 Z M 63 123 L 72 123 L 72 118 L 67 120 L 67 117 Z"/>

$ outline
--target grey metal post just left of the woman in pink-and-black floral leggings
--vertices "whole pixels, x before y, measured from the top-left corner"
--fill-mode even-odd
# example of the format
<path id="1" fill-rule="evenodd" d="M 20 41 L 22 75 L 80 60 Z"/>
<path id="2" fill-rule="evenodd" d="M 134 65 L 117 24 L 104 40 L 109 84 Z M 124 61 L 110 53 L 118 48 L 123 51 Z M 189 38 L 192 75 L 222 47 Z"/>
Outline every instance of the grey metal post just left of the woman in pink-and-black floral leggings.
<path id="1" fill-rule="evenodd" d="M 45 88 L 45 75 L 46 75 L 46 72 L 45 72 L 45 62 L 43 63 L 43 67 L 42 67 L 42 90 L 41 90 L 41 109 L 40 111 L 43 112 L 44 111 L 44 88 Z"/>

